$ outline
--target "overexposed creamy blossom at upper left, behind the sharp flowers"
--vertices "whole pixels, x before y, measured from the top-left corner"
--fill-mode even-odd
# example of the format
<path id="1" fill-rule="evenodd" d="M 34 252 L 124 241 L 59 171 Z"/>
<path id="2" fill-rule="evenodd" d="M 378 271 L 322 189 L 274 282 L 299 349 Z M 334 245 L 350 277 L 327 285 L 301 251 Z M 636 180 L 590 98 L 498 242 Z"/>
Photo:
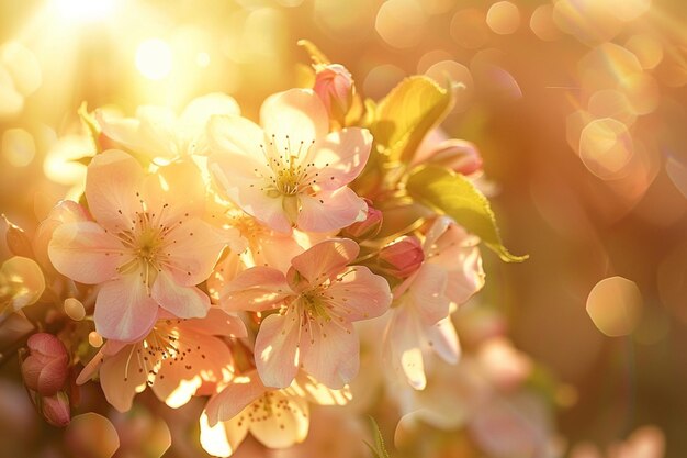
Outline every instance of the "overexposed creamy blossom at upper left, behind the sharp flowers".
<path id="1" fill-rule="evenodd" d="M 236 101 L 223 93 L 193 99 L 181 115 L 166 107 L 140 107 L 136 118 L 114 118 L 103 111 L 95 116 L 104 143 L 112 142 L 151 158 L 174 159 L 192 154 L 206 154 L 205 125 L 212 115 L 238 115 Z"/>

